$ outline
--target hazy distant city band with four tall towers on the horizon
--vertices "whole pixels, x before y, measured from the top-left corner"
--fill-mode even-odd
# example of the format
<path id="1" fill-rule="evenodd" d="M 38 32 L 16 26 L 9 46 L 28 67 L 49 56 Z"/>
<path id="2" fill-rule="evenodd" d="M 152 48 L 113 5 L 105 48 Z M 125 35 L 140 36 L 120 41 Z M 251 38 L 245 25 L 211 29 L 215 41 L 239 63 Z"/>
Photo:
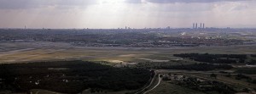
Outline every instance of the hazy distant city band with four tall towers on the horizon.
<path id="1" fill-rule="evenodd" d="M 69 42 L 84 47 L 199 47 L 256 44 L 256 29 L 193 28 L 172 29 L 1 29 L 0 42 Z"/>

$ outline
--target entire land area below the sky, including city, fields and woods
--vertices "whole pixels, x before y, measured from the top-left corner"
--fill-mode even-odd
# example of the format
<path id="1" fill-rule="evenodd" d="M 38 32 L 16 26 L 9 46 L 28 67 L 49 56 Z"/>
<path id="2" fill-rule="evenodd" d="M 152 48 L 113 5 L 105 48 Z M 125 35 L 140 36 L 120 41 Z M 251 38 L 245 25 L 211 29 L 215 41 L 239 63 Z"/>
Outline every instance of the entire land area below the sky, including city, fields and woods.
<path id="1" fill-rule="evenodd" d="M 0 29 L 0 93 L 252 94 L 256 29 Z"/>

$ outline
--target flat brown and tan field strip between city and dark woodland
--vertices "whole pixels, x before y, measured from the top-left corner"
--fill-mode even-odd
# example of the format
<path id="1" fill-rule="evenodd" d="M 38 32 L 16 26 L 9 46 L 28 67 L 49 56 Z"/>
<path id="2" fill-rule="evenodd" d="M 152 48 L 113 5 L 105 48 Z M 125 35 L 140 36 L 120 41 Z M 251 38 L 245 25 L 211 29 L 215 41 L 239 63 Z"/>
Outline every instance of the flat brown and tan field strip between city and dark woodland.
<path id="1" fill-rule="evenodd" d="M 0 63 L 81 59 L 113 63 L 166 62 L 177 59 L 174 53 L 256 53 L 256 46 L 230 47 L 75 47 L 67 43 L 15 42 L 0 43 Z"/>

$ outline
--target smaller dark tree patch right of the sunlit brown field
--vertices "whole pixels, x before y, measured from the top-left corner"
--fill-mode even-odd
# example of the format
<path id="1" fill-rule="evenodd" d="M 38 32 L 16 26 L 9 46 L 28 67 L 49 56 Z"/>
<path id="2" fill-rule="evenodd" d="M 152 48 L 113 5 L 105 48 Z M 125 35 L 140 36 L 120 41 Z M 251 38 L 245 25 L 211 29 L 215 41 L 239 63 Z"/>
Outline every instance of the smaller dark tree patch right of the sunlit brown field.
<path id="1" fill-rule="evenodd" d="M 245 63 L 246 54 L 208 54 L 208 53 L 181 53 L 174 54 L 175 57 L 189 58 L 199 62 L 214 64 L 236 64 Z"/>

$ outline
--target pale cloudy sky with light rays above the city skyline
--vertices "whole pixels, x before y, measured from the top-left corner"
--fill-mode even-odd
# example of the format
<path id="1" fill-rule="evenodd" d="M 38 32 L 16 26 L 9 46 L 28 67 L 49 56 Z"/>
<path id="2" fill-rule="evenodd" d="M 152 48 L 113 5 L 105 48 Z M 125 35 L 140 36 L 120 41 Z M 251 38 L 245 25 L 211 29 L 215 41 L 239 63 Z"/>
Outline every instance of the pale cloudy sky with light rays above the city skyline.
<path id="1" fill-rule="evenodd" d="M 0 28 L 255 28 L 256 0 L 0 0 Z"/>

